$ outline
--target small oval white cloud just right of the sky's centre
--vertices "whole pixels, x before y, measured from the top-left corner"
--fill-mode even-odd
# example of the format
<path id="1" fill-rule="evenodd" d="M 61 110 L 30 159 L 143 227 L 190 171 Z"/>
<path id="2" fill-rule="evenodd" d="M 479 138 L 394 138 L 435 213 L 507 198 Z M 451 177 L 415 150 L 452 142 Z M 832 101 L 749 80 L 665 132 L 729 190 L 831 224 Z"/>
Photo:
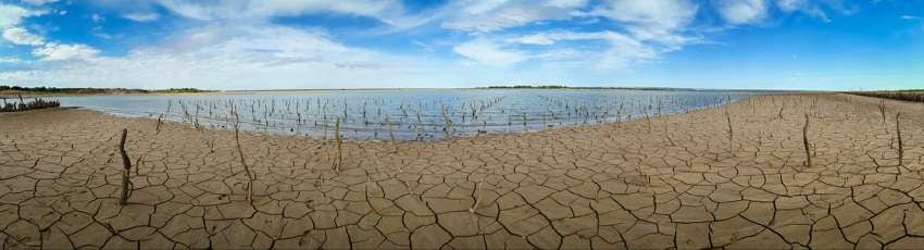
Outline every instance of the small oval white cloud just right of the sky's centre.
<path id="1" fill-rule="evenodd" d="M 522 62 L 527 55 L 516 50 L 505 50 L 494 41 L 475 39 L 452 48 L 458 54 L 489 66 L 509 66 Z"/>

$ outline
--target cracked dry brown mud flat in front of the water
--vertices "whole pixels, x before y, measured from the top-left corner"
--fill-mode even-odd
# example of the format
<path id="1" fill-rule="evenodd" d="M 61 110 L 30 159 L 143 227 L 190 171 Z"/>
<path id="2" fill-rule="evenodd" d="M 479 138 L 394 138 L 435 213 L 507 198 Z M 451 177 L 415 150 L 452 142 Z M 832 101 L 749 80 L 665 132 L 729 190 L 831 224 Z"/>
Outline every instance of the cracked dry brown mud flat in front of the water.
<path id="1" fill-rule="evenodd" d="M 877 99 L 754 97 L 728 107 L 732 147 L 724 108 L 652 118 L 650 132 L 637 120 L 457 138 L 449 148 L 347 141 L 339 173 L 329 142 L 247 134 L 252 203 L 233 132 L 167 123 L 155 133 L 152 120 L 66 109 L 4 114 L 0 241 L 55 249 L 916 248 L 924 243 L 924 105 L 886 103 L 883 123 Z M 807 112 L 812 166 L 803 165 Z M 137 168 L 129 204 L 120 207 L 123 127 Z"/>

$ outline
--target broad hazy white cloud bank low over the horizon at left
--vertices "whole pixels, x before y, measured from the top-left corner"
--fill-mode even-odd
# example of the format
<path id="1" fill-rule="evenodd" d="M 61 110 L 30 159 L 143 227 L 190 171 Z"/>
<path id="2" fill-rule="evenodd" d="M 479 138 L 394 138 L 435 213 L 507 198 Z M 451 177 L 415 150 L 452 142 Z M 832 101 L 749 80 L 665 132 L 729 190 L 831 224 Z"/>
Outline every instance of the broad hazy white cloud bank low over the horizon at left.
<path id="1" fill-rule="evenodd" d="M 48 60 L 87 59 L 43 68 L 0 72 L 0 80 L 34 85 L 216 89 L 390 86 L 383 78 L 439 83 L 439 67 L 344 46 L 319 32 L 278 26 L 209 26 L 186 30 L 125 57 L 89 47 L 36 50 Z M 70 49 L 73 57 L 65 57 Z M 75 55 L 76 54 L 76 55 Z M 433 68 L 432 68 L 433 67 Z M 430 78 L 432 77 L 432 78 Z M 267 82 L 269 79 L 269 82 Z"/>

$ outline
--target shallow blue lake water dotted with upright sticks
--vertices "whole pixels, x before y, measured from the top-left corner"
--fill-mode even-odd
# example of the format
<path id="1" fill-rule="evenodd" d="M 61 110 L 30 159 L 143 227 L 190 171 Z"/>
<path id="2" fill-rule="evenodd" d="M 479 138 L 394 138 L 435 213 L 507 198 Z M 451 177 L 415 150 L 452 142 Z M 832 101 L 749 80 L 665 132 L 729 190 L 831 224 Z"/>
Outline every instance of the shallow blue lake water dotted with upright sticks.
<path id="1" fill-rule="evenodd" d="M 198 126 L 232 128 L 238 121 L 237 124 L 247 130 L 329 139 L 334 136 L 335 121 L 339 120 L 341 137 L 347 139 L 389 139 L 394 133 L 396 139 L 428 140 L 445 137 L 447 118 L 452 136 L 519 133 L 687 112 L 751 95 L 742 91 L 415 89 L 58 99 L 62 107 L 82 107 L 125 116 L 163 116 Z"/>

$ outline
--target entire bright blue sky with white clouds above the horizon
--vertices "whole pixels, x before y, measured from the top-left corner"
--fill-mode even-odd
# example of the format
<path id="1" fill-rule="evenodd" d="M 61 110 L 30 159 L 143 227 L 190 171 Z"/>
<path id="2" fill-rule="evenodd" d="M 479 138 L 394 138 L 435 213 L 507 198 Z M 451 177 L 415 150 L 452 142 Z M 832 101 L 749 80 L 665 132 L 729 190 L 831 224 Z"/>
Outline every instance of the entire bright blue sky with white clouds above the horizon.
<path id="1" fill-rule="evenodd" d="M 0 84 L 924 88 L 920 0 L 0 0 Z"/>

